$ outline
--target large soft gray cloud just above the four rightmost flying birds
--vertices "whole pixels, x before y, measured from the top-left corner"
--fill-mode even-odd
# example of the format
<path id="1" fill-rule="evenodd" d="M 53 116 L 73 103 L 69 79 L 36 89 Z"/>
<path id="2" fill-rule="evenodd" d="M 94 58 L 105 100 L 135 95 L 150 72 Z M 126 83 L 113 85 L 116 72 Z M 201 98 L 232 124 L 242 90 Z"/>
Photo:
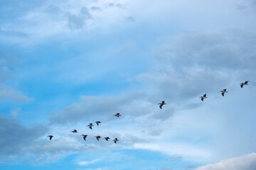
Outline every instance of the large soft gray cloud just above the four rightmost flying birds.
<path id="1" fill-rule="evenodd" d="M 245 30 L 184 33 L 156 50 L 153 71 L 137 80 L 149 84 L 154 95 L 176 103 L 216 93 L 238 79 L 253 79 L 255 45 L 256 34 Z"/>

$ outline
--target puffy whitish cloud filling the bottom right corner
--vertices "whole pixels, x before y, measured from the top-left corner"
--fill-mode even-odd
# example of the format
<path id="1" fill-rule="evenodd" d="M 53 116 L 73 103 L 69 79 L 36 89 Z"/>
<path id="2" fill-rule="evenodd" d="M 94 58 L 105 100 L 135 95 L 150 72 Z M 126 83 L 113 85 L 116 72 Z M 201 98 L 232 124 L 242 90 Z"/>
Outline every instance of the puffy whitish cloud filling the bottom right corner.
<path id="1" fill-rule="evenodd" d="M 253 170 L 256 167 L 256 153 L 247 154 L 242 157 L 225 159 L 217 164 L 201 166 L 196 170 Z"/>

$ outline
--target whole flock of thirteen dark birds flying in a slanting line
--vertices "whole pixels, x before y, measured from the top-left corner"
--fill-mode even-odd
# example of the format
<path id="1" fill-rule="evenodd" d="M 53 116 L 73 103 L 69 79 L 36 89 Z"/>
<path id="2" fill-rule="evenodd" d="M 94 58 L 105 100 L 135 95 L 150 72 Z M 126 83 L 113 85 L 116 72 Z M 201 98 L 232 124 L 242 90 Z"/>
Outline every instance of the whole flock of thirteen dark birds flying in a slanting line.
<path id="1" fill-rule="evenodd" d="M 245 85 L 248 85 L 248 82 L 249 81 L 245 81 L 244 83 L 240 83 L 240 87 L 242 88 L 242 86 L 245 86 Z M 224 94 L 225 93 L 228 93 L 228 91 L 227 91 L 227 89 L 223 89 L 222 91 L 220 91 L 221 92 L 221 95 L 222 96 L 224 96 Z M 203 101 L 203 99 L 205 99 L 205 98 L 207 98 L 206 97 L 206 94 L 203 94 L 203 96 L 200 96 L 199 98 L 201 98 L 201 101 Z M 166 105 L 166 103 L 165 103 L 165 101 L 161 101 L 161 103 L 158 103 L 159 104 L 159 108 L 161 108 L 162 109 L 162 107 L 164 106 L 164 105 Z M 113 115 L 113 116 L 116 116 L 117 118 L 119 118 L 121 115 L 120 115 L 120 113 L 117 113 L 117 114 L 115 114 L 115 115 Z M 100 123 L 102 123 L 101 121 L 96 121 L 95 122 L 96 124 L 97 124 L 97 126 L 98 125 L 100 125 Z M 94 126 L 94 125 L 92 125 L 92 123 L 90 123 L 89 125 L 87 125 L 91 130 L 92 130 L 92 126 Z M 78 132 L 78 130 L 73 130 L 73 131 L 71 131 L 71 132 L 73 132 L 73 133 L 77 133 Z M 88 136 L 88 135 L 81 135 L 82 136 L 82 138 L 84 139 L 84 140 L 86 140 L 86 137 Z M 53 135 L 48 135 L 47 137 L 49 137 L 49 139 L 50 140 L 52 140 L 52 138 L 53 138 Z M 99 141 L 100 140 L 100 138 L 102 138 L 101 136 L 99 136 L 99 135 L 97 135 L 97 136 L 95 136 L 96 137 L 96 140 L 97 141 Z M 103 137 L 106 141 L 109 141 L 110 140 L 110 137 Z M 115 137 L 114 138 L 114 143 L 117 143 L 119 140 L 117 139 L 117 137 Z"/>

